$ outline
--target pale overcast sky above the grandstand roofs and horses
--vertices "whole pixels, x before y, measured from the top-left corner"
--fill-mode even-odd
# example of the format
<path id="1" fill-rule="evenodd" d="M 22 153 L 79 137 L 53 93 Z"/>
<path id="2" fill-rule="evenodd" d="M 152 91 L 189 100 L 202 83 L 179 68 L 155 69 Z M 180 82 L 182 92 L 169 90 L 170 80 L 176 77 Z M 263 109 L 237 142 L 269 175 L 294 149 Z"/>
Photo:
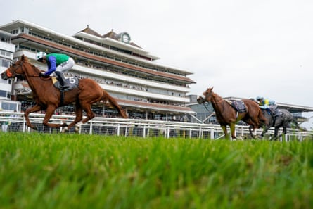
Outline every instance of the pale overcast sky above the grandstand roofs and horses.
<path id="1" fill-rule="evenodd" d="M 193 72 L 191 94 L 313 106 L 312 0 L 1 1 L 0 25 L 128 32 L 159 63 Z"/>

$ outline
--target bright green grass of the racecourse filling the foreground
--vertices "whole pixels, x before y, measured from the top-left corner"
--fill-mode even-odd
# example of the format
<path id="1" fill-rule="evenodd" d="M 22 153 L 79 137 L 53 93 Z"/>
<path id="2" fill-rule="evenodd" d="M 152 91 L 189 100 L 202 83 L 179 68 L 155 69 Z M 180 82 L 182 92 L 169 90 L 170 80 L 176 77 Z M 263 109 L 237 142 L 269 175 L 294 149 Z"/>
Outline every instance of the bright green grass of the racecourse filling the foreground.
<path id="1" fill-rule="evenodd" d="M 312 208 L 312 141 L 0 133 L 0 208 Z"/>

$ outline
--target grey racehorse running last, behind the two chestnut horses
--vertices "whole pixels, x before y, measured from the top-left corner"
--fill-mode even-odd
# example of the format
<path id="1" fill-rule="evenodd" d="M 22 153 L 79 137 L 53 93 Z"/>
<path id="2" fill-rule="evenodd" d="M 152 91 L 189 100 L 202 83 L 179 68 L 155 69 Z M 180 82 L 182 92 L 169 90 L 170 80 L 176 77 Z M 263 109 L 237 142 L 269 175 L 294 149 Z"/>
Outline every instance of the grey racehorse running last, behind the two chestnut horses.
<path id="1" fill-rule="evenodd" d="M 274 137 L 272 139 L 276 140 L 278 137 L 281 137 L 287 133 L 287 128 L 290 127 L 291 123 L 295 124 L 295 127 L 298 129 L 303 130 L 298 125 L 297 120 L 293 118 L 293 115 L 291 115 L 291 113 L 286 109 L 277 109 L 276 117 L 274 117 L 271 113 L 268 112 L 268 110 L 265 109 L 262 109 L 262 113 L 264 117 L 267 118 L 267 123 L 264 125 L 261 137 L 264 137 L 264 134 L 269 130 L 270 127 L 274 127 Z M 277 136 L 280 127 L 283 127 L 283 132 Z"/>

